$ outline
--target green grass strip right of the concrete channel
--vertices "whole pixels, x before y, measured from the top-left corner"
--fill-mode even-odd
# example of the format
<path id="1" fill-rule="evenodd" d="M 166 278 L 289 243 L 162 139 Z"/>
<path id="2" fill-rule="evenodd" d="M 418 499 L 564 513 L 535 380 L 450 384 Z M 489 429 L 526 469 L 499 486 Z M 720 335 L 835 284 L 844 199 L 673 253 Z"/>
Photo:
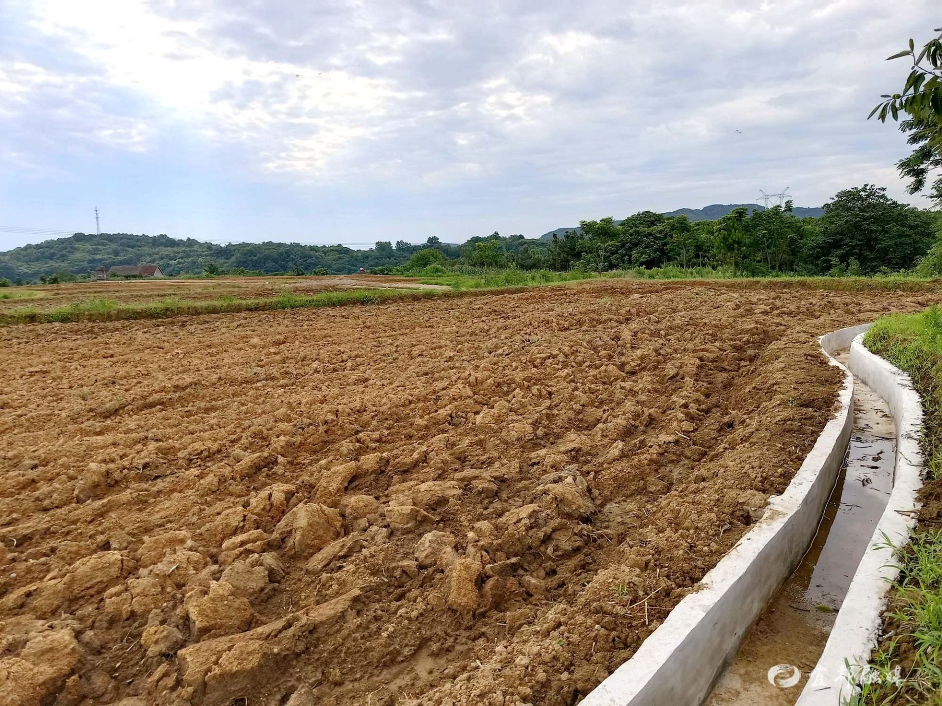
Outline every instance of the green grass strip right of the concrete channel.
<path id="1" fill-rule="evenodd" d="M 927 477 L 919 524 L 900 555 L 901 572 L 885 613 L 885 637 L 872 664 L 881 679 L 853 704 L 942 703 L 942 311 L 879 319 L 867 347 L 909 374 L 925 412 Z M 897 671 L 899 667 L 899 671 Z"/>

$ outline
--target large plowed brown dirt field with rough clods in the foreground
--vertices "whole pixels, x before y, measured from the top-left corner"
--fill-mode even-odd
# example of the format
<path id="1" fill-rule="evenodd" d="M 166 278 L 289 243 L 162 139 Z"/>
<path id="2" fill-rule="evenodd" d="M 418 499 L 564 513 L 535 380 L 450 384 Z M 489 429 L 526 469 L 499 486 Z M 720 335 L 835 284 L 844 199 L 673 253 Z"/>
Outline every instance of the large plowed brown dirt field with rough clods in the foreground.
<path id="1" fill-rule="evenodd" d="M 801 465 L 815 336 L 609 281 L 0 329 L 0 704 L 571 704 Z"/>

